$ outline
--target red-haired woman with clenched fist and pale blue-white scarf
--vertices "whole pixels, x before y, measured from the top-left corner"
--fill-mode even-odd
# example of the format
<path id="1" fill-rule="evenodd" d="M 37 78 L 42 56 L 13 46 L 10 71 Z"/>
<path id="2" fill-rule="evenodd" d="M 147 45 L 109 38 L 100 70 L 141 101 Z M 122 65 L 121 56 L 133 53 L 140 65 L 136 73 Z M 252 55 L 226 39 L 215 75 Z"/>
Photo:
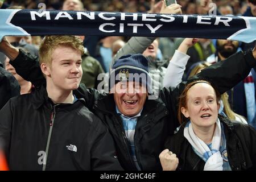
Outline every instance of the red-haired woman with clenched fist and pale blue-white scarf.
<path id="1" fill-rule="evenodd" d="M 181 128 L 159 155 L 163 170 L 256 169 L 255 129 L 218 115 L 219 101 L 220 93 L 208 81 L 185 87 L 179 100 Z"/>

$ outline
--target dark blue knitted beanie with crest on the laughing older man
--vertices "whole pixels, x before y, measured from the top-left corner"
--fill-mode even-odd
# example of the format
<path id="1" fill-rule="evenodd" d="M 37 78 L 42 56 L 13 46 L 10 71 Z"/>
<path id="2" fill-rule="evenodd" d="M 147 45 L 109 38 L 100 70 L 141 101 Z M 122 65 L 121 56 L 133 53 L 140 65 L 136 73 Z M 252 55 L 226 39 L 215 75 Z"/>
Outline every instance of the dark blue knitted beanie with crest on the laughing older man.
<path id="1" fill-rule="evenodd" d="M 120 57 L 115 61 L 109 77 L 109 90 L 119 81 L 138 81 L 151 93 L 151 77 L 148 73 L 148 60 L 141 53 Z"/>

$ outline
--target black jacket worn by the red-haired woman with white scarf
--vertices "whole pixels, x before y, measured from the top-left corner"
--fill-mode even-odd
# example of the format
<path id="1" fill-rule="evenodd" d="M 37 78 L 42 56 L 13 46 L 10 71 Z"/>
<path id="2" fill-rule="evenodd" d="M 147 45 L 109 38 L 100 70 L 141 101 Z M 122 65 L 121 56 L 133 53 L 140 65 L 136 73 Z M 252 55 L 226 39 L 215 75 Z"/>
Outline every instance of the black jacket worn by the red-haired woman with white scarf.
<path id="1" fill-rule="evenodd" d="M 219 115 L 224 126 L 228 160 L 233 171 L 256 170 L 256 130 L 250 125 L 240 122 L 230 122 L 228 118 Z M 184 127 L 166 140 L 168 148 L 179 159 L 178 171 L 203 171 L 205 162 L 193 151 L 191 144 L 184 137 Z"/>

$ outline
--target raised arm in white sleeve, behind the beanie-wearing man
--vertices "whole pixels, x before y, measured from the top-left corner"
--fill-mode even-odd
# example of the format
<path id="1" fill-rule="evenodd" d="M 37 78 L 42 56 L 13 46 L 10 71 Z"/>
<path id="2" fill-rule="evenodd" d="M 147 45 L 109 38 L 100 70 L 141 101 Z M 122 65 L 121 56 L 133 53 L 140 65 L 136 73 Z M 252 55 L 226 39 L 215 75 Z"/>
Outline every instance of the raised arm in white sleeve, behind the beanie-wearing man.
<path id="1" fill-rule="evenodd" d="M 182 81 L 182 76 L 185 71 L 185 66 L 188 63 L 189 57 L 186 53 L 189 47 L 192 47 L 198 39 L 187 38 L 180 44 L 175 51 L 174 56 L 170 60 L 167 67 L 166 75 L 164 76 L 163 86 L 175 88 Z"/>

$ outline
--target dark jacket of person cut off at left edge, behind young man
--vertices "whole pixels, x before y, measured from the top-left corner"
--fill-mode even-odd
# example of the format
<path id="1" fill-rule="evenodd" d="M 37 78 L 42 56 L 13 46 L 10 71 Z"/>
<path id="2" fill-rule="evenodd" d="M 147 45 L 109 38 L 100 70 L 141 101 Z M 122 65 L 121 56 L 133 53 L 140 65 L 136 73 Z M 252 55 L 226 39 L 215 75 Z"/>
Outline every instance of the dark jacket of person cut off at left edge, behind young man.
<path id="1" fill-rule="evenodd" d="M 20 86 L 16 78 L 0 65 L 0 109 L 11 97 L 19 96 Z"/>

